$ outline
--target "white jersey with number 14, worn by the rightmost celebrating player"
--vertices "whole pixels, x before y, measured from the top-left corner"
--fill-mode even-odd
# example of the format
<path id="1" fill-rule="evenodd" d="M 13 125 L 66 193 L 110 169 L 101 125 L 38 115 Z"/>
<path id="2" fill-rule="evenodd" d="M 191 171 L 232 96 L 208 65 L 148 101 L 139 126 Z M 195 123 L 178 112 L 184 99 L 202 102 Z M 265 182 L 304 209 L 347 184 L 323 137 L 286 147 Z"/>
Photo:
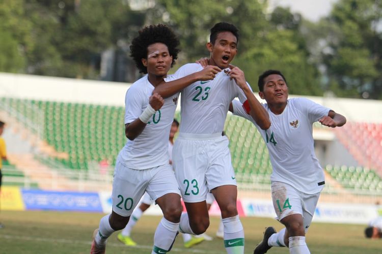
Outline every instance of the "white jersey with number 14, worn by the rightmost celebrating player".
<path id="1" fill-rule="evenodd" d="M 305 98 L 288 99 L 283 113 L 275 115 L 267 104 L 270 128 L 262 130 L 237 100 L 233 113 L 252 121 L 263 137 L 272 165 L 271 181 L 285 182 L 301 192 L 314 194 L 324 183 L 323 170 L 314 153 L 313 122 L 327 116 L 329 108 Z"/>

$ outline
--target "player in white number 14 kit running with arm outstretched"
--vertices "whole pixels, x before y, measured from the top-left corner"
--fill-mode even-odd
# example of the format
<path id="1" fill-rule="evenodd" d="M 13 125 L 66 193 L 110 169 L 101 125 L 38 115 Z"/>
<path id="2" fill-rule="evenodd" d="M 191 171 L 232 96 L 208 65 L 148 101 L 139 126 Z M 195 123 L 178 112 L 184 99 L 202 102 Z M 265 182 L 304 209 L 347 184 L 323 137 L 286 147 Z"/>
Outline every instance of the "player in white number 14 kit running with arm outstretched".
<path id="1" fill-rule="evenodd" d="M 320 192 L 324 174 L 314 154 L 313 122 L 329 127 L 342 126 L 346 118 L 305 98 L 288 99 L 288 86 L 280 71 L 268 70 L 259 77 L 259 95 L 271 125 L 262 130 L 243 105 L 234 100 L 230 111 L 251 120 L 262 135 L 272 165 L 271 193 L 278 220 L 285 226 L 279 233 L 266 228 L 254 254 L 267 252 L 271 246 L 288 246 L 289 252 L 310 253 L 305 242 Z M 245 105 L 244 105 L 245 106 Z"/>

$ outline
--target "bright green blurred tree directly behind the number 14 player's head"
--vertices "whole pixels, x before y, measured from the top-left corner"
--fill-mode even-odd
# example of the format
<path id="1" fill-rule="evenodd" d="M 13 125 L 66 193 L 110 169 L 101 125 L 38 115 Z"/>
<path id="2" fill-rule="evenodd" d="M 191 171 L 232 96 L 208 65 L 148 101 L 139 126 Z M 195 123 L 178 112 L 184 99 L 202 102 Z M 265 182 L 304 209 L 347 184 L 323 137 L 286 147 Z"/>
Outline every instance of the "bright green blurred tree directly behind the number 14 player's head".
<path id="1" fill-rule="evenodd" d="M 317 70 L 308 62 L 307 54 L 298 47 L 291 30 L 273 30 L 264 34 L 261 44 L 242 54 L 237 62 L 245 62 L 243 71 L 257 90 L 258 76 L 268 69 L 280 70 L 287 79 L 289 93 L 322 95 Z"/>

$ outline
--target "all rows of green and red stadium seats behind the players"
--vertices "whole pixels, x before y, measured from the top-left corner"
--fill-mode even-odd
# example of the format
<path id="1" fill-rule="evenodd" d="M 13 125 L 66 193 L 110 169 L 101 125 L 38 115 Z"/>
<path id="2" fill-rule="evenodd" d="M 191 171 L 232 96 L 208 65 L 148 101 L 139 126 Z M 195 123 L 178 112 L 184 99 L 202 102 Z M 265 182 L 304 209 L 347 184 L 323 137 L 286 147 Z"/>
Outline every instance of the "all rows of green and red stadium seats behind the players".
<path id="1" fill-rule="evenodd" d="M 43 138 L 58 152 L 68 154 L 67 158 L 36 157 L 52 168 L 88 170 L 89 165 L 104 159 L 114 165 L 119 150 L 126 142 L 123 107 L 12 98 L 0 98 L 0 100 L 27 118 L 36 118 L 37 113 L 31 110 L 31 107 L 24 105 L 37 106 L 43 112 Z M 179 112 L 176 112 L 175 118 L 180 120 Z M 339 139 L 349 151 L 352 152 L 355 147 L 365 149 L 368 162 L 382 163 L 379 156 L 382 154 L 380 149 L 382 125 L 350 123 L 349 126 L 344 129 L 344 132 L 337 132 Z M 315 124 L 314 128 L 322 128 L 322 126 Z M 248 120 L 229 114 L 224 129 L 230 140 L 232 165 L 238 182 L 269 184 L 272 172 L 269 154 L 255 126 Z M 365 133 L 373 138 L 366 138 Z M 370 148 L 367 149 L 368 147 Z M 363 152 L 358 153 L 363 154 Z M 354 152 L 353 154 L 357 155 Z M 354 157 L 360 160 L 362 158 L 355 155 Z M 364 165 L 368 164 L 365 162 Z M 344 188 L 378 192 L 382 190 L 381 179 L 375 171 L 368 168 L 329 165 L 325 170 Z"/>

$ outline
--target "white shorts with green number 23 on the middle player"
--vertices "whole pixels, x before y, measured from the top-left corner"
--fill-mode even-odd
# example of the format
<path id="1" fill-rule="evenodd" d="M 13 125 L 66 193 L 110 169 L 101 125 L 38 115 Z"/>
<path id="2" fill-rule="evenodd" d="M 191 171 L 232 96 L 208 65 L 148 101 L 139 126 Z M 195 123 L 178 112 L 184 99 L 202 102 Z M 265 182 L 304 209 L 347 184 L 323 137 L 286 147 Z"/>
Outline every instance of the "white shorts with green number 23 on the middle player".
<path id="1" fill-rule="evenodd" d="M 206 200 L 222 185 L 235 185 L 228 138 L 221 133 L 180 133 L 173 148 L 173 167 L 184 202 Z"/>

